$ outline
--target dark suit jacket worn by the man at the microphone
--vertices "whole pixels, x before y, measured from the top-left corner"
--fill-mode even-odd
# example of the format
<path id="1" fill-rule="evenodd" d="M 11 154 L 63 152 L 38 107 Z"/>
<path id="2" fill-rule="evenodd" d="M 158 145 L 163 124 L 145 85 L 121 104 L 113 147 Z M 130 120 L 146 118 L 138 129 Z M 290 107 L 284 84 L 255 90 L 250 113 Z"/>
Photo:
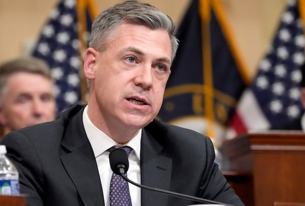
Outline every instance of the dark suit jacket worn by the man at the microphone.
<path id="1" fill-rule="evenodd" d="M 104 205 L 97 163 L 82 124 L 83 108 L 78 105 L 53 122 L 23 128 L 2 139 L 19 170 L 27 205 Z M 141 184 L 243 205 L 214 163 L 208 137 L 156 120 L 142 131 Z M 193 203 L 141 190 L 142 206 Z"/>

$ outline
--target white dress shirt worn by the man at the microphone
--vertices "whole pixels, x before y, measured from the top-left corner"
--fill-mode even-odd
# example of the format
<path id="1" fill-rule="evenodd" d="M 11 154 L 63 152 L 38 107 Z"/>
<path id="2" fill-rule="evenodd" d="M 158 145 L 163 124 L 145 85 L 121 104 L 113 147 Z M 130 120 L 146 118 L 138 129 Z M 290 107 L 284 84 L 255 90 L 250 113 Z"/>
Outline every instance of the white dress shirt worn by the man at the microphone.
<path id="1" fill-rule="evenodd" d="M 140 184 L 141 182 L 141 173 L 140 173 L 140 148 L 141 148 L 141 131 L 130 140 L 128 143 L 121 145 L 107 136 L 104 132 L 99 130 L 94 124 L 90 121 L 87 114 L 88 105 L 84 108 L 83 112 L 83 125 L 89 142 L 92 146 L 98 170 L 101 178 L 101 184 L 103 188 L 103 195 L 105 200 L 105 205 L 109 205 L 109 188 L 110 180 L 112 175 L 112 170 L 109 163 L 109 152 L 107 150 L 114 145 L 118 146 L 130 146 L 133 151 L 129 155 L 129 169 L 127 171 L 127 176 L 132 181 Z M 141 190 L 140 188 L 129 183 L 130 196 L 133 206 L 141 205 Z M 98 194 L 97 194 L 98 195 Z"/>

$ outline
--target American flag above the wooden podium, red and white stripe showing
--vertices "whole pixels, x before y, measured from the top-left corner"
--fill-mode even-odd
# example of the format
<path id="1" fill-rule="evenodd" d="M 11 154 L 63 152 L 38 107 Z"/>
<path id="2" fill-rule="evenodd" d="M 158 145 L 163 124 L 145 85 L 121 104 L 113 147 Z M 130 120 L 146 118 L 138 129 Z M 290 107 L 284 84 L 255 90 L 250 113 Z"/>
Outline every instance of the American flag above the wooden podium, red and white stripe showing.
<path id="1" fill-rule="evenodd" d="M 237 134 L 283 125 L 303 113 L 299 87 L 305 39 L 299 4 L 301 1 L 288 2 L 272 44 L 241 97 L 237 121 L 232 124 Z"/>

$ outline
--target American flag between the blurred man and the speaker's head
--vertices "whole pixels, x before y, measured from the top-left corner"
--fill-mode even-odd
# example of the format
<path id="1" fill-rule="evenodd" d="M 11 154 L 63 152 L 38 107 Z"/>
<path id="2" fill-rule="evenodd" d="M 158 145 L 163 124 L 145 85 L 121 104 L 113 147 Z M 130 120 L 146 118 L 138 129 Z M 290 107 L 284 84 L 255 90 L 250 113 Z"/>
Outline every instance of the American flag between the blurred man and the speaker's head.
<path id="1" fill-rule="evenodd" d="M 59 1 L 52 10 L 48 22 L 43 26 L 33 51 L 33 56 L 41 58 L 50 67 L 58 112 L 81 101 L 81 48 L 82 42 L 87 42 L 91 19 L 86 18 L 88 26 L 80 23 L 78 4 L 89 5 L 87 2 L 92 3 L 85 0 Z M 85 17 L 95 15 L 89 16 L 87 12 L 90 11 L 86 9 L 83 8 L 81 11 Z M 80 29 L 83 31 L 82 34 L 79 33 Z"/>

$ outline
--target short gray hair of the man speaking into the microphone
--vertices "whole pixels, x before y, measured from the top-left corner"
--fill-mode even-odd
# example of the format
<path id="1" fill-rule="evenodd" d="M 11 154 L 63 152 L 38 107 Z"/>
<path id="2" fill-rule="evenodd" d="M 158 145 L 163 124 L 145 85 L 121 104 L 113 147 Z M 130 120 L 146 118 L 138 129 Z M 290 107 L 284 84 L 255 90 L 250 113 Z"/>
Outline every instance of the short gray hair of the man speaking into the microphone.
<path id="1" fill-rule="evenodd" d="M 104 10 L 93 22 L 89 47 L 103 51 L 110 37 L 121 22 L 144 25 L 152 30 L 161 28 L 169 34 L 172 60 L 176 55 L 178 40 L 175 37 L 175 25 L 172 19 L 150 4 L 138 1 L 126 1 Z"/>

